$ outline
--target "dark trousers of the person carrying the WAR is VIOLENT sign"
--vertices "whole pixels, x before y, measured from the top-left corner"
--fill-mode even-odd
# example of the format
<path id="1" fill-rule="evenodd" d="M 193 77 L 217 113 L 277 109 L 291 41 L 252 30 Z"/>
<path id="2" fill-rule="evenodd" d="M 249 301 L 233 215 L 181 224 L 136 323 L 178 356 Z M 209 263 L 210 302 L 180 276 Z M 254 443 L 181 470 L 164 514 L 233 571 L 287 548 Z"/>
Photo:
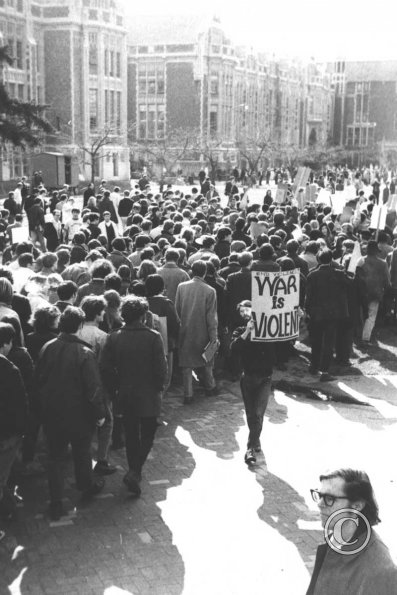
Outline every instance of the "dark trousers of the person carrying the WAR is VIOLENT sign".
<path id="1" fill-rule="evenodd" d="M 260 448 L 263 418 L 271 393 L 271 377 L 243 373 L 240 378 L 248 424 L 247 448 Z"/>

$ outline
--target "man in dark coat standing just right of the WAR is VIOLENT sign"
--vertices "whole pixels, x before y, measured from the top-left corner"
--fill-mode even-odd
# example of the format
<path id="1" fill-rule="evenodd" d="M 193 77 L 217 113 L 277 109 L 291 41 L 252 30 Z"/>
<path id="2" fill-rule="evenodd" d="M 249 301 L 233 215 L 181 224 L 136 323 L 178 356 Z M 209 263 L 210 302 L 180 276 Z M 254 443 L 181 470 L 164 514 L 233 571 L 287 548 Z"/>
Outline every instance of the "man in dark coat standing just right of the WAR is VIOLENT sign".
<path id="1" fill-rule="evenodd" d="M 328 370 L 337 325 L 348 317 L 348 281 L 343 271 L 331 266 L 331 250 L 322 250 L 317 258 L 320 266 L 307 277 L 305 307 L 310 317 L 312 343 L 310 373 L 320 371 L 320 380 L 326 382 L 333 380 Z"/>

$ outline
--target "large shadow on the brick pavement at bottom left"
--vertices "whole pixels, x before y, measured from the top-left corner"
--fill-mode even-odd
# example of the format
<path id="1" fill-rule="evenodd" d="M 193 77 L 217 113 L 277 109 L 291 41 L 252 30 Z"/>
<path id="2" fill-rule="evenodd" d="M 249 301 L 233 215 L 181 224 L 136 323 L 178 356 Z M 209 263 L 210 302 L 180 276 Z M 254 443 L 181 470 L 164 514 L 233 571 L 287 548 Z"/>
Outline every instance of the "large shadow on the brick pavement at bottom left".
<path id="1" fill-rule="evenodd" d="M 46 477 L 25 479 L 25 505 L 17 523 L 6 527 L 0 543 L 0 593 L 106 593 L 124 589 L 134 595 L 183 592 L 185 566 L 158 503 L 167 489 L 180 485 L 195 463 L 175 437 L 175 406 L 166 406 L 165 423 L 143 470 L 142 495 L 134 499 L 122 484 L 127 469 L 124 450 L 113 451 L 119 467 L 106 478 L 102 494 L 81 507 L 69 462 L 65 507 L 59 523 L 43 514 Z"/>

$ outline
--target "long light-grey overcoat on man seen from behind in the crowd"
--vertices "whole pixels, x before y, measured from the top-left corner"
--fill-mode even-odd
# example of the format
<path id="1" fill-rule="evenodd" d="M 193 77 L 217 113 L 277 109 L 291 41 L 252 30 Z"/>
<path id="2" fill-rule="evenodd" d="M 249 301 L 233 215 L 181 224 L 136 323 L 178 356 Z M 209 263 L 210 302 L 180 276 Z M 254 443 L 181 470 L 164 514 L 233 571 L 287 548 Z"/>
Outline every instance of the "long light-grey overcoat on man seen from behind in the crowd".
<path id="1" fill-rule="evenodd" d="M 179 365 L 183 368 L 203 367 L 205 347 L 209 341 L 218 338 L 215 289 L 200 277 L 193 277 L 178 286 L 175 307 L 181 320 Z"/>

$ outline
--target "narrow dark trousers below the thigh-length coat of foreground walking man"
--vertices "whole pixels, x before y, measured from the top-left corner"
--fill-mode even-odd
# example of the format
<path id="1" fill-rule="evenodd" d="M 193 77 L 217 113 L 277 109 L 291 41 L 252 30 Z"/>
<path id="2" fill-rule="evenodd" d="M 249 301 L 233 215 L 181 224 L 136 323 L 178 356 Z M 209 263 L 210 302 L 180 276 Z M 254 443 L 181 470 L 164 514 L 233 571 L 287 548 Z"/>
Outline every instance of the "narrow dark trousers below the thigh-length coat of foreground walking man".
<path id="1" fill-rule="evenodd" d="M 139 475 L 153 446 L 157 417 L 138 417 L 125 411 L 123 418 L 128 467 Z"/>

